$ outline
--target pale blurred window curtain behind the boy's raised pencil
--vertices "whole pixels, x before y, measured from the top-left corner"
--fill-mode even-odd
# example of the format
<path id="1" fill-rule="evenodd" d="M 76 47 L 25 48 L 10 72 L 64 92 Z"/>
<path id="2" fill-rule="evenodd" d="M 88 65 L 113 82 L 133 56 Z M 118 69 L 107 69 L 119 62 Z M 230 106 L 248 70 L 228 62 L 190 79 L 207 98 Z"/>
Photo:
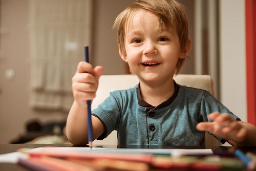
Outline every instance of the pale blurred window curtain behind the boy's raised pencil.
<path id="1" fill-rule="evenodd" d="M 30 0 L 29 5 L 30 105 L 69 111 L 71 79 L 91 41 L 92 0 Z"/>

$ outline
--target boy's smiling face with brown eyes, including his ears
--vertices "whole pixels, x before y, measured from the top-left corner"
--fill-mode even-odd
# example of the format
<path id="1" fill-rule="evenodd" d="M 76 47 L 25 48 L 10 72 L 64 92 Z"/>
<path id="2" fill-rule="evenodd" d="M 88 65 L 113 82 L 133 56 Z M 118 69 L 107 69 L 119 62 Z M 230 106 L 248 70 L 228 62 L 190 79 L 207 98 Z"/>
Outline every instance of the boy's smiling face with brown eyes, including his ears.
<path id="1" fill-rule="evenodd" d="M 125 28 L 125 51 L 120 55 L 143 82 L 173 79 L 176 63 L 185 58 L 176 28 L 158 29 L 158 17 L 146 10 L 136 12 Z"/>

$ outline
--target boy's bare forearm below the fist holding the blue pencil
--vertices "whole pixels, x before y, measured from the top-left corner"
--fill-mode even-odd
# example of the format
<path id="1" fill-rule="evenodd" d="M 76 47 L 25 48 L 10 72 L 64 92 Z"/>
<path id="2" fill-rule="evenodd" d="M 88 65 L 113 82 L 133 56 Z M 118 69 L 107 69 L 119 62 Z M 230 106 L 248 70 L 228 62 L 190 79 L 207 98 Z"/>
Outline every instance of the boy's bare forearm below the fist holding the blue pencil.
<path id="1" fill-rule="evenodd" d="M 67 119 L 67 137 L 74 145 L 88 143 L 87 104 L 79 105 L 74 101 Z"/>

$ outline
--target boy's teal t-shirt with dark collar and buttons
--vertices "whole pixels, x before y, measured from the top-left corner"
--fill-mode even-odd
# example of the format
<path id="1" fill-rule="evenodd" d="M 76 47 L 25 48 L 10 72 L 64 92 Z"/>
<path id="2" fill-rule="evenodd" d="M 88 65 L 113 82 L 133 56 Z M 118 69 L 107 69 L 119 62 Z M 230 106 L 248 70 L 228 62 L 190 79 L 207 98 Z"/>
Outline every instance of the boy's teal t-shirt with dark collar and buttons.
<path id="1" fill-rule="evenodd" d="M 159 106 L 142 105 L 139 91 L 137 85 L 111 92 L 92 111 L 105 126 L 98 140 L 117 130 L 118 144 L 123 145 L 204 145 L 205 133 L 197 131 L 196 125 L 210 121 L 208 114 L 228 113 L 239 119 L 205 90 L 176 84 L 174 95 Z"/>

